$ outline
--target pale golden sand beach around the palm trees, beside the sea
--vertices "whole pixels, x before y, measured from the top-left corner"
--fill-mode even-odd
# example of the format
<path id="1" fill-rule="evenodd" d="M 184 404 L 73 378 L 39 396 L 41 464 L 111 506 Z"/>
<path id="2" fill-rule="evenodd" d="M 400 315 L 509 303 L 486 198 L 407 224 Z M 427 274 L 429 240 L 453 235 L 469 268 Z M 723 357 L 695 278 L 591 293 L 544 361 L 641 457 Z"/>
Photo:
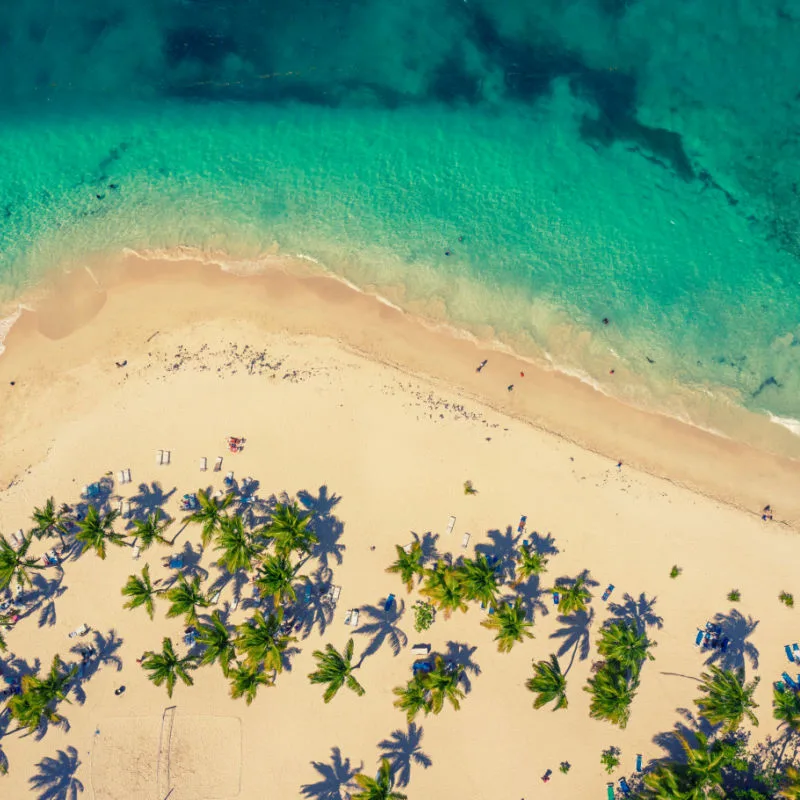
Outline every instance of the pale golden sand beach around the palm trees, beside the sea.
<path id="1" fill-rule="evenodd" d="M 71 556 L 63 578 L 55 567 L 42 572 L 50 596 L 31 593 L 35 605 L 7 633 L 9 652 L 46 667 L 54 654 L 69 655 L 69 632 L 86 623 L 92 630 L 81 641 L 95 641 L 103 658 L 81 683 L 85 698 L 61 706 L 69 730 L 0 740 L 10 764 L 3 797 L 38 796 L 36 765 L 61 751 L 80 762 L 79 796 L 97 800 L 161 800 L 165 787 L 171 800 L 322 800 L 345 797 L 354 771 L 374 774 L 387 748 L 396 763 L 409 762 L 401 790 L 414 800 L 603 797 L 608 780 L 633 773 L 636 754 L 645 764 L 667 755 L 658 737 L 693 709 L 709 657 L 695 634 L 715 618 L 731 644 L 726 654 L 712 651 L 724 656 L 714 663 L 762 676 L 753 738 L 774 735 L 771 684 L 786 668 L 783 645 L 797 638 L 799 612 L 778 601 L 780 591 L 800 593 L 797 462 L 621 406 L 331 280 L 135 261 L 64 279 L 38 313 L 23 314 L 0 358 L 0 531 L 27 529 L 35 505 L 50 496 L 75 503 L 105 476 L 114 507 L 131 499 L 134 513 L 158 505 L 178 520 L 174 545 L 154 545 L 138 561 L 130 547 L 111 548 L 105 561 Z M 231 435 L 245 437 L 242 452 L 227 451 Z M 158 450 L 170 452 L 169 465 L 156 464 Z M 223 468 L 213 472 L 217 456 Z M 116 481 L 123 469 L 130 484 Z M 307 571 L 316 587 L 341 586 L 341 596 L 327 614 L 315 589 L 290 669 L 251 706 L 229 697 L 218 666 L 198 669 L 195 685 L 179 684 L 170 700 L 136 659 L 163 636 L 184 652 L 183 622 L 164 617 L 163 600 L 153 622 L 123 609 L 120 588 L 144 563 L 154 579 L 167 578 L 174 570 L 165 561 L 178 552 L 208 572 L 206 586 L 219 576 L 199 530 L 179 522 L 179 503 L 184 493 L 221 488 L 228 470 L 257 480 L 260 498 L 285 492 L 315 512 L 320 548 Z M 464 494 L 467 479 L 477 494 Z M 760 518 L 767 503 L 771 522 Z M 445 535 L 450 515 L 456 524 Z M 509 654 L 497 652 L 476 604 L 415 633 L 418 594 L 385 572 L 394 546 L 416 534 L 456 558 L 477 551 L 509 560 L 521 515 L 529 536 L 551 536 L 557 550 L 540 590 L 591 573 L 588 617 L 565 620 L 549 594 L 531 588 L 535 639 Z M 37 543 L 36 552 L 49 546 Z M 603 602 L 607 584 L 615 588 Z M 739 603 L 727 600 L 732 589 Z M 397 654 L 382 613 L 389 593 L 403 611 Z M 242 623 L 251 594 L 242 587 L 234 610 L 228 585 L 218 608 Z M 344 618 L 354 608 L 353 630 Z M 626 613 L 639 614 L 658 644 L 619 730 L 590 719 L 583 687 L 599 627 Z M 307 678 L 312 650 L 341 649 L 350 635 L 357 657 L 374 650 L 358 669 L 366 694 L 342 690 L 325 705 Z M 460 711 L 420 716 L 410 728 L 392 688 L 410 678 L 417 642 L 466 666 L 467 694 Z M 550 653 L 568 668 L 569 707 L 557 712 L 534 710 L 524 686 L 531 661 Z M 608 777 L 600 754 L 610 745 L 622 763 Z"/>

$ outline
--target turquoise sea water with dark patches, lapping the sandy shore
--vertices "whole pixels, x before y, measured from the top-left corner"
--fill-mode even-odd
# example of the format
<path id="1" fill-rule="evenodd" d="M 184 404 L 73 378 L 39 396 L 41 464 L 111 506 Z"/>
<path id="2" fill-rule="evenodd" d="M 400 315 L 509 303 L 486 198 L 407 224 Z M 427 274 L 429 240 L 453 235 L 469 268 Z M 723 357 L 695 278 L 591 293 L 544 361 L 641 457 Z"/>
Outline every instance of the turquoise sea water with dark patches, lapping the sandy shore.
<path id="1" fill-rule="evenodd" d="M 5 4 L 3 295 L 277 246 L 636 402 L 791 425 L 798 40 L 797 0 Z"/>

